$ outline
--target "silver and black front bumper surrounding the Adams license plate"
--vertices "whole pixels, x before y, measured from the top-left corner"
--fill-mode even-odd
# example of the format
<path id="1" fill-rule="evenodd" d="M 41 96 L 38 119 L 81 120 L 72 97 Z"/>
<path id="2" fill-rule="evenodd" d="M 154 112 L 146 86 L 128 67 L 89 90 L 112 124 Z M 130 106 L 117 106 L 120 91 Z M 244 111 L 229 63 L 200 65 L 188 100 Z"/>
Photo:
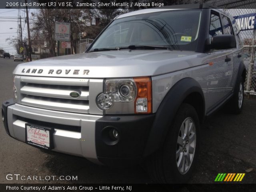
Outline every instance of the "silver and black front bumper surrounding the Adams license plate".
<path id="1" fill-rule="evenodd" d="M 82 156 L 109 166 L 136 164 L 143 158 L 154 115 L 100 116 L 60 112 L 15 104 L 2 105 L 6 132 L 25 142 L 25 124 L 53 128 L 53 151 Z M 118 130 L 119 139 L 112 142 L 106 134 Z"/>

